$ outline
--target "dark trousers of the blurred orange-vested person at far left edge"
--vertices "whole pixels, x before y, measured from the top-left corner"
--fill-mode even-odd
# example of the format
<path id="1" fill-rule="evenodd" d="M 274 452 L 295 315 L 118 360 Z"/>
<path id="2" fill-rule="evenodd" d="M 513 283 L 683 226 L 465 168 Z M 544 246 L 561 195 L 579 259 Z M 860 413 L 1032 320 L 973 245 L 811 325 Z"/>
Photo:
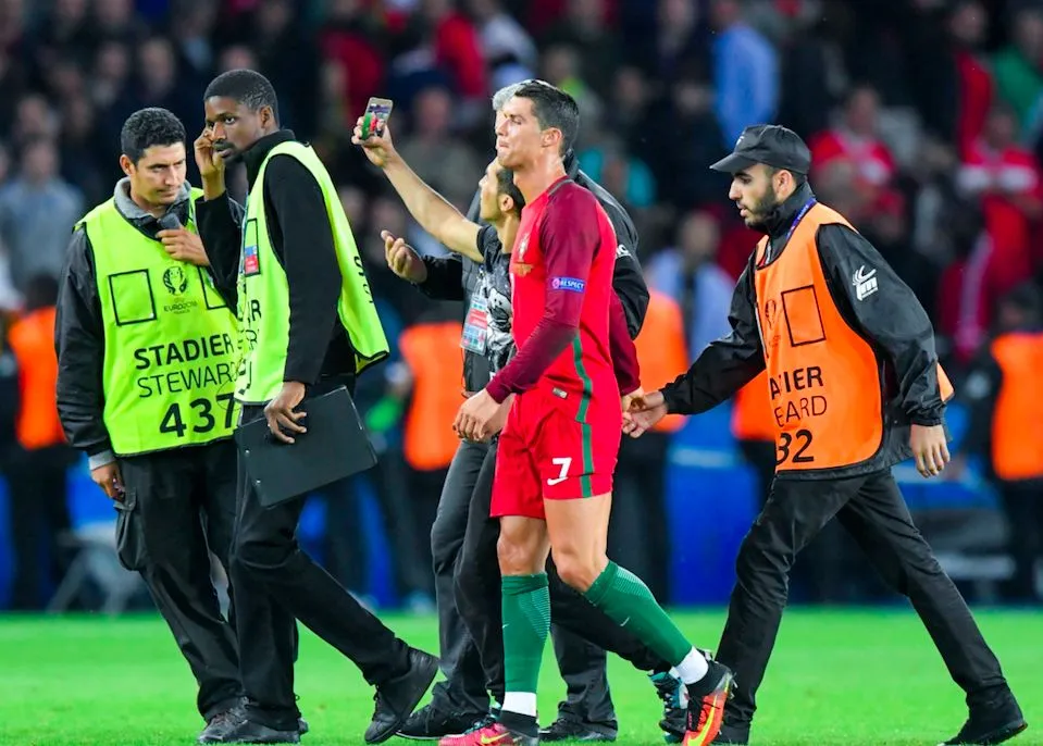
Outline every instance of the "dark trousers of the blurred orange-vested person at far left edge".
<path id="1" fill-rule="evenodd" d="M 72 527 L 65 480 L 74 458 L 67 446 L 37 450 L 15 446 L 11 453 L 4 471 L 14 551 L 12 609 L 42 609 L 45 579 L 57 587 L 69 568 L 60 539 Z"/>

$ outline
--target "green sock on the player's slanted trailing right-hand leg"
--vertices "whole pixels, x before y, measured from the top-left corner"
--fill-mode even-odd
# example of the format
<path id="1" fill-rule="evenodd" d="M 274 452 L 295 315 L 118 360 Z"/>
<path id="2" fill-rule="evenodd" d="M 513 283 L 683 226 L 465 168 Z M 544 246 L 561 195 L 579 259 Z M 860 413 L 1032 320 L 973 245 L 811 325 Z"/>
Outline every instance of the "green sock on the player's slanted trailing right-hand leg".
<path id="1" fill-rule="evenodd" d="M 584 596 L 671 666 L 680 663 L 692 649 L 692 644 L 670 621 L 648 586 L 616 562 L 609 561 Z"/>

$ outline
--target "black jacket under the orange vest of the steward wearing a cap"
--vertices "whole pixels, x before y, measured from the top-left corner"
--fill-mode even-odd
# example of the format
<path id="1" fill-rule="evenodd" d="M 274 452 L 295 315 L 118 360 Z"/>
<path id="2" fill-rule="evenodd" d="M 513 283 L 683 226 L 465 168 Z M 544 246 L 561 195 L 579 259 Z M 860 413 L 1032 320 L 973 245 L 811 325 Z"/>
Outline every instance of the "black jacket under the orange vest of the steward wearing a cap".
<path id="1" fill-rule="evenodd" d="M 769 235 L 777 246 L 800 208 L 812 197 L 802 186 L 775 211 Z M 909 425 L 943 423 L 945 405 L 938 382 L 938 355 L 931 321 L 912 294 L 869 241 L 850 228 L 823 225 L 816 244 L 833 302 L 844 321 L 872 346 L 884 381 L 884 443 L 867 462 L 836 470 L 786 472 L 794 478 L 832 478 L 886 469 L 911 456 Z M 785 250 L 785 246 L 775 249 Z M 757 297 L 750 254 L 732 296 L 732 331 L 711 343 L 686 373 L 663 387 L 671 412 L 697 414 L 731 398 L 765 370 L 757 327 Z M 856 300 L 853 277 L 877 271 L 879 290 Z"/>

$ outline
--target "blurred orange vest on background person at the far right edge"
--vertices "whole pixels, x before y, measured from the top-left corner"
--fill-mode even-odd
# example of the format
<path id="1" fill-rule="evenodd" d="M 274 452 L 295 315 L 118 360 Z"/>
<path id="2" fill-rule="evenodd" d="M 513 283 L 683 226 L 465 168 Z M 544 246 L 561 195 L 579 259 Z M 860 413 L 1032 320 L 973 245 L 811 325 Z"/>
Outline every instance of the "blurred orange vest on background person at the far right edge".
<path id="1" fill-rule="evenodd" d="M 992 416 L 992 468 L 1001 480 L 1043 476 L 1043 334 L 1004 334 L 992 343 L 1003 383 Z"/>

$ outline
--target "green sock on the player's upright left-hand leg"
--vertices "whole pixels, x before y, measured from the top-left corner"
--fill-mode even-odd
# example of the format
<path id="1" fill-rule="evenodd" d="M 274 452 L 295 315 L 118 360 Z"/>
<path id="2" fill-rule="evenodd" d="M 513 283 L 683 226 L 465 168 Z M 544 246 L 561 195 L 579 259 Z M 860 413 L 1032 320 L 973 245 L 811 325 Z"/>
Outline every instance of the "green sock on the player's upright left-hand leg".
<path id="1" fill-rule="evenodd" d="M 501 587 L 506 691 L 535 694 L 539 663 L 550 632 L 547 573 L 504 575 Z"/>

